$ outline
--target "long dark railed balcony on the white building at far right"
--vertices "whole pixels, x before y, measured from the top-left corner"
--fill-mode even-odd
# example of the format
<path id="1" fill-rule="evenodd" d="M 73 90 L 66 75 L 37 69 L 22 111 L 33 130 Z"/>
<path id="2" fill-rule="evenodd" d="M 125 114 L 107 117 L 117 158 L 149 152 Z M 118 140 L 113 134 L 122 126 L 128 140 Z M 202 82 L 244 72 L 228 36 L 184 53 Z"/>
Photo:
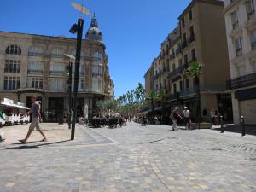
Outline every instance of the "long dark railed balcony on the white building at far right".
<path id="1" fill-rule="evenodd" d="M 241 76 L 227 81 L 227 90 L 234 90 L 256 84 L 256 73 Z"/>

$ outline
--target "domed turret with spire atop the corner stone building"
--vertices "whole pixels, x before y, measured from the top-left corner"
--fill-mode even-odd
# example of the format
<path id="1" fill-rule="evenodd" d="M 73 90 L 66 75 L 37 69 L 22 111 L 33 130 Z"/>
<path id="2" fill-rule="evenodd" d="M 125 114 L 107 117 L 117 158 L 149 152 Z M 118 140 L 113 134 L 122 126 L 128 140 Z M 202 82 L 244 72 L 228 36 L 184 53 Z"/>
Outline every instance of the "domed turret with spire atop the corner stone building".
<path id="1" fill-rule="evenodd" d="M 86 32 L 85 38 L 102 42 L 102 32 L 98 27 L 98 23 L 97 23 L 95 14 L 93 15 L 93 18 L 91 19 L 90 28 Z"/>

